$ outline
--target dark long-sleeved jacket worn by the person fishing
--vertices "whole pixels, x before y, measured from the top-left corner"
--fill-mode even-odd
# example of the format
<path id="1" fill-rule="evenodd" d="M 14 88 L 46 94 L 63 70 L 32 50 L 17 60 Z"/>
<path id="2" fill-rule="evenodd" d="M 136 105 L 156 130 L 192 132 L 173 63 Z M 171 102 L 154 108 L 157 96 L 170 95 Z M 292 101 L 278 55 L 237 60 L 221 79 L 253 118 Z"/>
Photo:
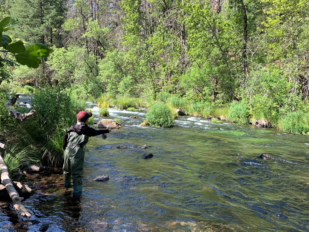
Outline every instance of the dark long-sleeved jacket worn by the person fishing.
<path id="1" fill-rule="evenodd" d="M 76 132 L 78 135 L 86 135 L 86 136 L 89 136 L 89 137 L 109 133 L 108 129 L 96 130 L 96 129 L 93 129 L 92 127 L 88 127 L 87 124 L 75 123 L 73 126 L 71 126 L 67 130 L 67 134 L 63 137 L 63 150 L 65 150 L 66 147 L 67 147 L 69 133 L 73 132 L 73 131 Z"/>

